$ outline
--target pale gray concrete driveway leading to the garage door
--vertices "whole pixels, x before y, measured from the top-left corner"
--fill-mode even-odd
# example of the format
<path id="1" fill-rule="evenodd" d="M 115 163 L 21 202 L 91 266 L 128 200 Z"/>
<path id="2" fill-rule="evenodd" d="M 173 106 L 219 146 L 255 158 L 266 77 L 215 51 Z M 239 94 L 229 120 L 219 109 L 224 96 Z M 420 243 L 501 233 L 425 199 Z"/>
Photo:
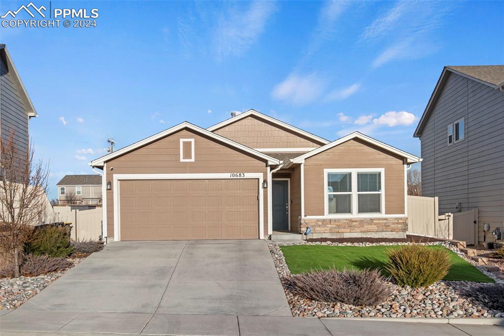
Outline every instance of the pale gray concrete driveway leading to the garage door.
<path id="1" fill-rule="evenodd" d="M 18 310 L 292 316 L 262 240 L 110 243 Z"/>

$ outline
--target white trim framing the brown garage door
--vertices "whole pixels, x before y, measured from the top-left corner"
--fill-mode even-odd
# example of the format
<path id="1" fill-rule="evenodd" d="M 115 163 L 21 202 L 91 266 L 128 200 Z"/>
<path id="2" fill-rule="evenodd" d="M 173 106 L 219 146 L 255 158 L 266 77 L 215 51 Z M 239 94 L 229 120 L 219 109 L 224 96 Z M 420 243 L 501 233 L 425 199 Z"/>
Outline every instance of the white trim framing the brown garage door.
<path id="1" fill-rule="evenodd" d="M 244 173 L 244 177 L 231 178 L 231 173 L 209 173 L 209 174 L 114 174 L 113 176 L 113 199 L 114 199 L 114 241 L 121 240 L 120 236 L 120 183 L 124 180 L 196 180 L 196 179 L 257 179 L 259 190 L 259 220 L 258 230 L 259 239 L 264 239 L 264 189 L 263 189 L 263 173 Z"/>

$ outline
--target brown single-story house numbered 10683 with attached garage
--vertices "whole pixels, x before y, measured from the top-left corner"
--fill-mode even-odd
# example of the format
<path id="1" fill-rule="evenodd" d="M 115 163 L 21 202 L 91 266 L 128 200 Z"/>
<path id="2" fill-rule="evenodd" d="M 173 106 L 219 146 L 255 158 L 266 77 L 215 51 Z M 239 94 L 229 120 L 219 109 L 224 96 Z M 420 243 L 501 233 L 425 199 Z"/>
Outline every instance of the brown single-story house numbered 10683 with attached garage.
<path id="1" fill-rule="evenodd" d="M 358 132 L 328 141 L 250 109 L 183 122 L 93 160 L 103 236 L 114 241 L 405 237 L 407 165 L 420 158 Z"/>

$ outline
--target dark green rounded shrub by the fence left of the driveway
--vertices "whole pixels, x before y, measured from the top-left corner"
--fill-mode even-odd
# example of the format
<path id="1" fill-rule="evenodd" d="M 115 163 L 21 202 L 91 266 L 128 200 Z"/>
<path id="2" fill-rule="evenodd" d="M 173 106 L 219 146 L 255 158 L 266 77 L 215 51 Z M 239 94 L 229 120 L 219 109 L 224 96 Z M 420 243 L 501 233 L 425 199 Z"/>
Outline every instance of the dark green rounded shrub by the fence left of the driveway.
<path id="1" fill-rule="evenodd" d="M 67 257 L 73 250 L 69 226 L 44 226 L 37 229 L 33 242 L 25 246 L 26 254 Z"/>

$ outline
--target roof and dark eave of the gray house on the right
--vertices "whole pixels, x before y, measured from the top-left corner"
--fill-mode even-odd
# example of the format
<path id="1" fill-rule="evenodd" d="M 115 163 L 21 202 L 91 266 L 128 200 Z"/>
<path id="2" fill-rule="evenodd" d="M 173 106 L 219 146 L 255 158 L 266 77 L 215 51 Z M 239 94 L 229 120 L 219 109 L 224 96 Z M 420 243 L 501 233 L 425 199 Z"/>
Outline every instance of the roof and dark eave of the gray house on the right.
<path id="1" fill-rule="evenodd" d="M 427 122 L 427 119 L 430 116 L 430 113 L 432 112 L 432 107 L 434 106 L 435 101 L 437 100 L 437 97 L 439 96 L 441 89 L 445 85 L 450 73 L 464 76 L 481 84 L 488 85 L 493 89 L 500 89 L 501 91 L 504 90 L 504 65 L 446 66 L 445 68 L 443 68 L 443 72 L 437 80 L 434 91 L 432 91 L 432 94 L 430 95 L 427 106 L 423 111 L 422 118 L 420 118 L 420 121 L 418 122 L 418 126 L 416 127 L 413 137 L 421 137 L 421 132 L 425 123 Z"/>

